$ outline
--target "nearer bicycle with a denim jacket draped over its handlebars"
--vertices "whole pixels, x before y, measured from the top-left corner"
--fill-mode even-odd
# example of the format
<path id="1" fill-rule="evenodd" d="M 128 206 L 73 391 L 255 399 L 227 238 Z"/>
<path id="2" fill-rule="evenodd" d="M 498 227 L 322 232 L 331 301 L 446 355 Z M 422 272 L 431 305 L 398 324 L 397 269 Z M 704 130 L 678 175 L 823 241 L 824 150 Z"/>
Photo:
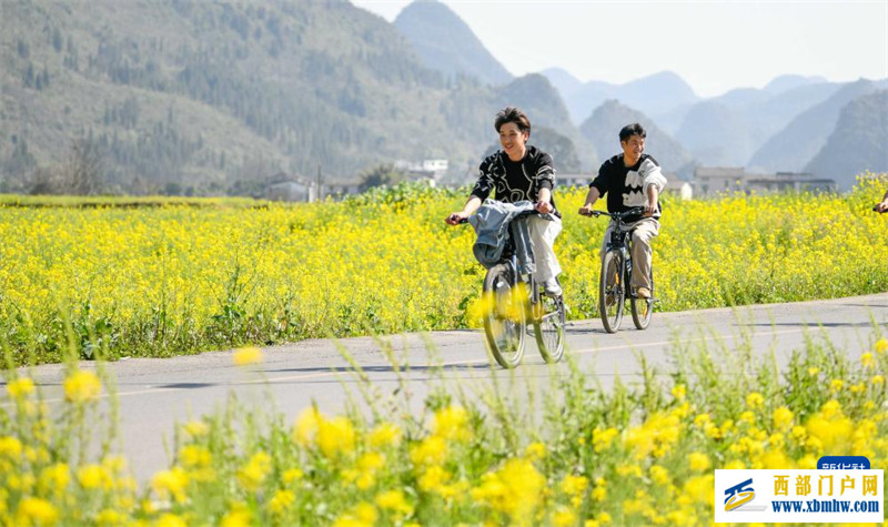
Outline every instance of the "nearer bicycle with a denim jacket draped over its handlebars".
<path id="1" fill-rule="evenodd" d="M 527 323 L 533 325 L 539 354 L 546 363 L 557 363 L 564 356 L 564 327 L 566 314 L 564 296 L 545 295 L 533 274 L 524 272 L 515 247 L 517 222 L 526 221 L 527 212 L 518 214 L 509 224 L 509 240 L 503 255 L 487 270 L 482 287 L 488 304 L 483 311 L 484 333 L 494 359 L 512 369 L 524 357 Z M 466 223 L 463 220 L 461 223 Z M 533 259 L 533 253 L 526 253 Z"/>

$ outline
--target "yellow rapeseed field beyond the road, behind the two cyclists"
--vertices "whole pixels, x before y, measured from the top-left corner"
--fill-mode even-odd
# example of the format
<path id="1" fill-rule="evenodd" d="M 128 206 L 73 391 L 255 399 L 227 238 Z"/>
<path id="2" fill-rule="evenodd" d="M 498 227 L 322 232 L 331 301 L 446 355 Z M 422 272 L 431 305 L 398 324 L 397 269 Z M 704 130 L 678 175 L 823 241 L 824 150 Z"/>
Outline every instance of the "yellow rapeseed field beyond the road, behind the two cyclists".
<path id="1" fill-rule="evenodd" d="M 847 195 L 664 196 L 658 308 L 888 290 L 888 175 Z M 309 337 L 477 324 L 467 192 L 401 186 L 344 202 L 0 199 L 0 341 L 14 364 L 170 356 Z M 571 318 L 597 316 L 605 220 L 558 190 Z M 121 203 L 122 202 L 122 203 Z M 124 206 L 120 206 L 120 205 Z M 83 206 L 89 205 L 89 206 Z"/>

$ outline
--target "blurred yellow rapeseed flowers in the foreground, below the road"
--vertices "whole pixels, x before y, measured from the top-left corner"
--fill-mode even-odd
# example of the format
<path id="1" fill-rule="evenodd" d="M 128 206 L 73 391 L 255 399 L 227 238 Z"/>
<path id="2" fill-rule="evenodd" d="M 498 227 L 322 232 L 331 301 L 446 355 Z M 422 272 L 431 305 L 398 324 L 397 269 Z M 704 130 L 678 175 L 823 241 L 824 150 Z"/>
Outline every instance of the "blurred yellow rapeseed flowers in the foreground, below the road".
<path id="1" fill-rule="evenodd" d="M 888 339 L 876 328 L 869 343 L 850 361 L 811 339 L 783 371 L 743 348 L 676 343 L 667 376 L 599 391 L 568 365 L 537 408 L 496 383 L 472 396 L 437 388 L 418 414 L 397 409 L 407 389 L 367 399 L 373 412 L 294 419 L 231 399 L 181 424 L 170 466 L 142 484 L 111 446 L 101 367 L 72 365 L 52 408 L 10 371 L 0 525 L 710 525 L 715 468 L 809 469 L 847 453 L 886 466 Z M 249 367 L 261 353 L 232 358 Z"/>

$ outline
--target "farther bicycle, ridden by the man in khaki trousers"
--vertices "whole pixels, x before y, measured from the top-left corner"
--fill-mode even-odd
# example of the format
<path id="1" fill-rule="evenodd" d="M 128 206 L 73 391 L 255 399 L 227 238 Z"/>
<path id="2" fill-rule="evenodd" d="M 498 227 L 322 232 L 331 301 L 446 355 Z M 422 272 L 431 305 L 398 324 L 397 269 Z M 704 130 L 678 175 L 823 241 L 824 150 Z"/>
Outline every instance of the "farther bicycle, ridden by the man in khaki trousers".
<path id="1" fill-rule="evenodd" d="M 607 241 L 604 257 L 602 259 L 602 275 L 598 278 L 598 312 L 602 316 L 604 330 L 616 333 L 623 322 L 623 312 L 626 298 L 632 306 L 632 321 L 638 330 L 646 330 L 650 325 L 654 313 L 654 273 L 649 275 L 650 297 L 640 298 L 632 290 L 632 243 L 629 231 L 624 230 L 626 217 L 639 216 L 644 207 L 637 206 L 626 212 L 592 211 L 593 216 L 609 216 L 615 220 L 615 225 Z"/>

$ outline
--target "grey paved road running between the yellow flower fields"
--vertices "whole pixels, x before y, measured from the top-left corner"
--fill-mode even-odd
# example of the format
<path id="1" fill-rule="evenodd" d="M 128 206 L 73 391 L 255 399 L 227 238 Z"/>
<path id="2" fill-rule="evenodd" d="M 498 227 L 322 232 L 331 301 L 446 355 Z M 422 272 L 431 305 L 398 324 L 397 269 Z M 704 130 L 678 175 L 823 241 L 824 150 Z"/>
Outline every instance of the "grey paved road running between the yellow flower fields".
<path id="1" fill-rule="evenodd" d="M 639 378 L 636 355 L 664 372 L 677 343 L 712 353 L 748 346 L 756 355 L 774 352 L 783 365 L 791 349 L 803 346 L 806 336 L 828 338 L 849 356 L 859 356 L 872 339 L 874 325 L 882 335 L 888 333 L 888 293 L 736 310 L 655 313 L 645 332 L 636 331 L 630 317 L 624 320 L 624 330 L 616 334 L 605 333 L 599 321 L 576 322 L 567 331 L 567 353 L 582 372 L 595 375 L 607 388 L 616 375 L 624 382 Z M 392 393 L 398 387 L 398 377 L 403 377 L 414 395 L 414 406 L 433 387 L 453 385 L 455 379 L 474 379 L 467 384 L 484 385 L 495 378 L 526 392 L 528 384 L 544 386 L 553 375 L 567 371 L 564 364 L 547 367 L 533 339 L 528 341 L 519 368 L 492 368 L 482 338 L 477 331 L 452 331 L 339 343 L 305 341 L 265 348 L 262 364 L 249 369 L 234 366 L 231 351 L 120 361 L 110 364 L 109 369 L 118 383 L 124 453 L 135 476 L 148 479 L 169 464 L 165 445 L 171 443 L 174 423 L 212 413 L 231 392 L 248 406 L 268 405 L 271 393 L 278 409 L 290 419 L 312 402 L 325 412 L 341 412 L 360 383 L 337 344 L 363 368 L 380 394 Z M 385 346 L 391 347 L 397 368 L 381 351 Z M 405 365 L 408 369 L 402 371 Z M 91 363 L 82 366 L 93 367 Z M 34 375 L 46 397 L 58 403 L 62 367 L 41 366 Z"/>

